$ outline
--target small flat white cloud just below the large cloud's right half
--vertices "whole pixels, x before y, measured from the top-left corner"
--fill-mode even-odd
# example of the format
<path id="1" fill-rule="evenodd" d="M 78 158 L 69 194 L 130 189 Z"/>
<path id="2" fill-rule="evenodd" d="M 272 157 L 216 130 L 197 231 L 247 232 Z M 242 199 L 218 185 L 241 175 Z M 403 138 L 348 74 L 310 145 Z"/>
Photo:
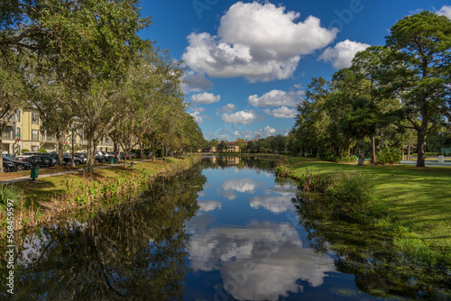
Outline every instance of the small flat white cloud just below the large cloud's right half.
<path id="1" fill-rule="evenodd" d="M 269 107 L 269 106 L 296 106 L 301 97 L 305 93 L 303 91 L 290 91 L 285 92 L 281 90 L 272 90 L 263 94 L 261 97 L 257 95 L 249 96 L 249 105 L 256 107 Z"/>

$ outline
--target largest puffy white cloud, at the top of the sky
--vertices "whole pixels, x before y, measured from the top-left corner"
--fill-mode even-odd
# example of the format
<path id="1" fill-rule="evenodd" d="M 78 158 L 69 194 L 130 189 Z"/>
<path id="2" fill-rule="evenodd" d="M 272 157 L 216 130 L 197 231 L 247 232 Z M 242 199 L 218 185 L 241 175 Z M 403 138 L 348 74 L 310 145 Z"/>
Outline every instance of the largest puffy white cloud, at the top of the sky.
<path id="1" fill-rule="evenodd" d="M 321 27 L 315 16 L 303 22 L 299 16 L 271 3 L 237 2 L 221 18 L 217 35 L 189 34 L 183 59 L 210 78 L 290 78 L 300 55 L 325 48 L 337 32 Z"/>

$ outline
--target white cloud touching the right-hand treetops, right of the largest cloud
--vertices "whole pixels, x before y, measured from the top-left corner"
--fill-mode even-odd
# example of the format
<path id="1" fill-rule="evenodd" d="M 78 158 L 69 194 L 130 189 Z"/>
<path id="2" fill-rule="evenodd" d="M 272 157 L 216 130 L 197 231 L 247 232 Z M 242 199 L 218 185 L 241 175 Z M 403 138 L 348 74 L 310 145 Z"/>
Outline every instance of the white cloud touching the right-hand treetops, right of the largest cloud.
<path id="1" fill-rule="evenodd" d="M 334 48 L 328 47 L 318 58 L 332 62 L 332 67 L 336 69 L 349 68 L 353 64 L 355 53 L 363 51 L 371 45 L 358 41 L 340 41 Z"/>

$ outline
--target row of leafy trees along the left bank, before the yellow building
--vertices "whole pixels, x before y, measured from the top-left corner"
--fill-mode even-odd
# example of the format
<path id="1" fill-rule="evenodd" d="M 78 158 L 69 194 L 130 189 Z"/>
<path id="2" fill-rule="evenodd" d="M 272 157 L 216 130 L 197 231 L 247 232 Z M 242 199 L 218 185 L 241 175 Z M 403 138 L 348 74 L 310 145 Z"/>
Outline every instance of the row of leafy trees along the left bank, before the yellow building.
<path id="1" fill-rule="evenodd" d="M 0 146 L 19 108 L 39 110 L 42 126 L 56 135 L 60 163 L 65 133 L 83 132 L 90 173 L 106 136 L 125 151 L 138 144 L 197 150 L 205 142 L 186 111 L 181 61 L 138 35 L 152 23 L 139 3 L 2 1 Z"/>

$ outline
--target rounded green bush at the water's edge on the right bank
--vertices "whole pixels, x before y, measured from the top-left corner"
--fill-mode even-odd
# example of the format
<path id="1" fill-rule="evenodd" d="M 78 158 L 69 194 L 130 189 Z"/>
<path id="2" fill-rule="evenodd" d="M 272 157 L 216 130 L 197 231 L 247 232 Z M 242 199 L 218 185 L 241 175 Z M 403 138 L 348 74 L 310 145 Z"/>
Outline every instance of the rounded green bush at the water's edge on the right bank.
<path id="1" fill-rule="evenodd" d="M 337 213 L 364 222 L 372 213 L 373 183 L 361 173 L 342 175 L 327 187 L 330 205 Z"/>

